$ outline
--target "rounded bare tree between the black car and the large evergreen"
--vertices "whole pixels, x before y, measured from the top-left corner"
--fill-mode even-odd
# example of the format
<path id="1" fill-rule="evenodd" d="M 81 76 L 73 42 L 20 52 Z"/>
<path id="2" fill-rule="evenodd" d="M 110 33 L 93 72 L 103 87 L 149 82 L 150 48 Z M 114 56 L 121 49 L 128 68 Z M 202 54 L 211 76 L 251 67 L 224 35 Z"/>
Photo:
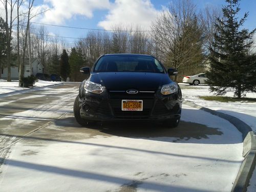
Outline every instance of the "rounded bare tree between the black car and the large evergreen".
<path id="1" fill-rule="evenodd" d="M 199 17 L 190 0 L 175 0 L 153 22 L 152 38 L 165 66 L 184 71 L 201 65 L 202 24 Z"/>

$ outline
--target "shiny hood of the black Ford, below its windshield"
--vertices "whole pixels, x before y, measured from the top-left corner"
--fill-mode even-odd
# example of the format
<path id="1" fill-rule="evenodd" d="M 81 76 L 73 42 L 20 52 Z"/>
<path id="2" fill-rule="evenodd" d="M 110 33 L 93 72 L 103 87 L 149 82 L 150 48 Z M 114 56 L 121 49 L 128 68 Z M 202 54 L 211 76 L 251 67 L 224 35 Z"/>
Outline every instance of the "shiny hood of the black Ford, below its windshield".
<path id="1" fill-rule="evenodd" d="M 99 83 L 110 91 L 156 91 L 163 84 L 173 82 L 168 74 L 143 72 L 92 73 L 88 80 Z"/>

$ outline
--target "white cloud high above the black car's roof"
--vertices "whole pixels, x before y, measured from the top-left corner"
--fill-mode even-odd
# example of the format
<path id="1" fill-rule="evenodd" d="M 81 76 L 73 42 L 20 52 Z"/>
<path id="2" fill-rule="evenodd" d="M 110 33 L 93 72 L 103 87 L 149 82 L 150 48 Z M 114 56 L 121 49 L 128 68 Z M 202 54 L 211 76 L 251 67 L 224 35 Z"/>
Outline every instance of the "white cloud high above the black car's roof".
<path id="1" fill-rule="evenodd" d="M 150 29 L 152 21 L 159 12 L 150 0 L 116 0 L 111 4 L 109 13 L 104 20 L 98 23 L 98 26 L 106 30 L 116 25 Z"/>

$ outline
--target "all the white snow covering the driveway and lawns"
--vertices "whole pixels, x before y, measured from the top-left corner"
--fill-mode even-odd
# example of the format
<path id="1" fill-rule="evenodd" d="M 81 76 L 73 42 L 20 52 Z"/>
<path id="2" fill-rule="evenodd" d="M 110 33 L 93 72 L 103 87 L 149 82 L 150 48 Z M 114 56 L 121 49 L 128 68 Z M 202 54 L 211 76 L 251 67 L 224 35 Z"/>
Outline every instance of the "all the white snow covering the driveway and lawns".
<path id="1" fill-rule="evenodd" d="M 6 83 L 0 81 L 0 91 L 15 88 Z M 186 100 L 237 116 L 256 130 L 255 103 L 206 101 L 198 96 L 212 95 L 208 86 L 180 86 Z M 53 91 L 60 94 L 59 99 L 53 98 L 56 97 L 52 96 Z M 6 130 L 29 129 L 30 125 L 54 121 L 64 113 L 68 113 L 67 119 L 73 118 L 72 104 L 77 88 L 44 88 L 34 92 L 38 95 L 28 94 L 19 99 L 44 97 L 47 102 L 13 113 L 12 116 L 19 118 L 12 119 Z M 231 92 L 228 94 L 232 96 Z M 247 96 L 256 97 L 255 94 Z M 11 102 L 14 100 L 1 105 Z M 65 129 L 61 124 L 52 123 L 31 135 L 37 138 L 33 143 L 24 139 L 12 146 L 10 156 L 0 168 L 1 191 L 230 191 L 243 160 L 241 133 L 225 119 L 185 104 L 181 120 L 181 123 L 198 123 L 193 131 L 202 129 L 202 135 L 177 137 L 178 127 L 168 136 L 125 137 L 100 133 L 108 133 L 104 129 L 90 136 L 77 127 Z M 200 124 L 206 125 L 209 131 L 204 133 Z M 122 129 L 120 124 L 116 126 Z M 73 135 L 69 133 L 71 129 L 76 129 Z M 40 139 L 47 131 L 54 133 L 54 139 Z M 214 134 L 210 134 L 211 131 Z M 250 191 L 255 191 L 253 189 Z"/>

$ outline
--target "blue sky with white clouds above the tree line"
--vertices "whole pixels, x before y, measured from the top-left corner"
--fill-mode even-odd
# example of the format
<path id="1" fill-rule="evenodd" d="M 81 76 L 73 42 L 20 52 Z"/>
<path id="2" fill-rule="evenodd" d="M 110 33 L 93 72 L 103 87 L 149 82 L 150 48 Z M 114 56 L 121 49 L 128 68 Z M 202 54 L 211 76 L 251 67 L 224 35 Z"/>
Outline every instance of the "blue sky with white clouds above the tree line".
<path id="1" fill-rule="evenodd" d="M 198 10 L 204 9 L 208 4 L 219 7 L 225 5 L 224 0 L 192 1 Z M 150 29 L 151 21 L 162 10 L 162 7 L 169 2 L 168 0 L 38 0 L 35 1 L 36 6 L 44 5 L 53 9 L 45 15 L 37 17 L 34 21 L 94 29 L 111 29 L 111 25 L 121 22 L 123 25 L 139 25 L 145 29 Z M 256 1 L 242 0 L 240 8 L 240 16 L 245 12 L 249 12 L 244 27 L 252 30 L 256 27 Z M 38 27 L 38 25 L 35 26 Z M 87 30 L 49 26 L 47 29 L 55 35 L 69 37 L 83 37 L 88 32 Z M 67 41 L 73 40 L 67 39 Z"/>

